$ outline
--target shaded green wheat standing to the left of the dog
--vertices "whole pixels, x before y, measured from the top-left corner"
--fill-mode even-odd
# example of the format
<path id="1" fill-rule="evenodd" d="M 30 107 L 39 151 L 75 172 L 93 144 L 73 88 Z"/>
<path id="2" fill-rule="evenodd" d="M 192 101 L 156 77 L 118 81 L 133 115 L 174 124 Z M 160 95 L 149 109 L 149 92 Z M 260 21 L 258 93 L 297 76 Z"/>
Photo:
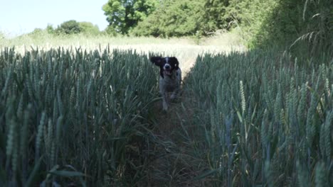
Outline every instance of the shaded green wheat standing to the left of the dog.
<path id="1" fill-rule="evenodd" d="M 157 93 L 146 56 L 6 48 L 0 72 L 0 186 L 139 181 L 144 116 Z"/>

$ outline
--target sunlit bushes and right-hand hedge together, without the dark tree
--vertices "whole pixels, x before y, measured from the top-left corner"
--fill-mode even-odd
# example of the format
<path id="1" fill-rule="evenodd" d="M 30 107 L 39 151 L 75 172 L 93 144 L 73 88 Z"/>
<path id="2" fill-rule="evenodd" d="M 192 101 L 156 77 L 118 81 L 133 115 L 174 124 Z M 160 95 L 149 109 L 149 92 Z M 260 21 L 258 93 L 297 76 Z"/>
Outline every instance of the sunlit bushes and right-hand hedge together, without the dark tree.
<path id="1" fill-rule="evenodd" d="M 290 47 L 311 56 L 333 51 L 332 12 L 330 0 L 165 0 L 131 33 L 200 38 L 235 28 L 249 47 Z"/>

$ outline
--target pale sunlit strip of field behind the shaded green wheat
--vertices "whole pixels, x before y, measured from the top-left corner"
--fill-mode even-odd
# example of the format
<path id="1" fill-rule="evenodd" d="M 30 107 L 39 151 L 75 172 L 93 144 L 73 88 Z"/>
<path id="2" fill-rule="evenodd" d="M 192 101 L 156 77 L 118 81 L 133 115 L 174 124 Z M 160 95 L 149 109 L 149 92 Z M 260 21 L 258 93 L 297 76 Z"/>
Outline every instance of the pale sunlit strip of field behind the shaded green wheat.
<path id="1" fill-rule="evenodd" d="M 244 51 L 236 34 L 221 33 L 210 38 L 134 38 L 134 37 L 111 37 L 107 35 L 63 35 L 49 34 L 23 35 L 18 38 L 0 38 L 0 48 L 15 47 L 16 52 L 23 54 L 27 50 L 50 50 L 51 48 L 64 48 L 82 50 L 102 50 L 106 47 L 110 50 L 135 50 L 140 54 L 149 54 L 177 57 L 184 72 L 194 64 L 196 57 L 209 52 L 231 52 L 232 50 Z"/>

